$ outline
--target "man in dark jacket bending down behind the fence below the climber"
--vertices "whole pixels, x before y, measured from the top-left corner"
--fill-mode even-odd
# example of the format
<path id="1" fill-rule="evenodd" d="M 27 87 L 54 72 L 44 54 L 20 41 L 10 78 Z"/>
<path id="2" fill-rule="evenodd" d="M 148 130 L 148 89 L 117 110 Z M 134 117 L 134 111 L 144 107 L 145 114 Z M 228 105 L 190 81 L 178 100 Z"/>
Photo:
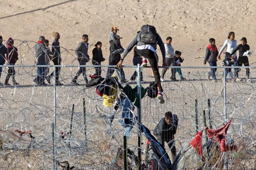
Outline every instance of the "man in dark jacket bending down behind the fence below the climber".
<path id="1" fill-rule="evenodd" d="M 175 137 L 178 127 L 178 117 L 172 112 L 166 112 L 165 117 L 162 118 L 154 129 L 153 134 L 156 136 L 156 140 L 165 146 L 164 142 L 167 142 L 168 147 L 172 153 L 172 163 L 176 157 Z"/>

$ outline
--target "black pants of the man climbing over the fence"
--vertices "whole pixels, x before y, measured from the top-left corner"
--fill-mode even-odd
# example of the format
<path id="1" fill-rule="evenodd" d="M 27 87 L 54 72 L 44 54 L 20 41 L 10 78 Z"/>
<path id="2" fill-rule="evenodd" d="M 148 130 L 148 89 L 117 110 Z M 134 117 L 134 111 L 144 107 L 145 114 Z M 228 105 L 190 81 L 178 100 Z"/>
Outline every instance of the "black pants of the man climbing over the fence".
<path id="1" fill-rule="evenodd" d="M 148 59 L 148 62 L 153 70 L 154 73 L 154 78 L 155 78 L 155 83 L 160 82 L 160 74 L 158 70 L 158 56 L 155 52 L 151 51 L 150 49 L 142 49 L 139 50 L 137 49 L 137 53 L 140 56 L 145 57 Z"/>

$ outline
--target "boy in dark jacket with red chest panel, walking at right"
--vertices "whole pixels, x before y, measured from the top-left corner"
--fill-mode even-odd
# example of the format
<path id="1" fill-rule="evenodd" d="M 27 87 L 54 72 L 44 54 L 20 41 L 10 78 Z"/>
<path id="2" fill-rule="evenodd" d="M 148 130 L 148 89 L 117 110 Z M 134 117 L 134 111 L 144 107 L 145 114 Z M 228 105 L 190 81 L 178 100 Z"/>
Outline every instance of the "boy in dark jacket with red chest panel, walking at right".
<path id="1" fill-rule="evenodd" d="M 206 62 L 209 63 L 211 67 L 217 66 L 217 56 L 218 56 L 218 49 L 215 45 L 215 39 L 210 38 L 209 39 L 209 45 L 206 48 L 206 54 L 205 54 L 205 60 L 204 65 L 206 65 Z M 215 72 L 217 71 L 217 68 L 210 68 L 211 71 L 208 72 L 208 80 L 210 80 L 210 76 L 212 76 L 212 81 L 216 81 L 216 75 Z"/>

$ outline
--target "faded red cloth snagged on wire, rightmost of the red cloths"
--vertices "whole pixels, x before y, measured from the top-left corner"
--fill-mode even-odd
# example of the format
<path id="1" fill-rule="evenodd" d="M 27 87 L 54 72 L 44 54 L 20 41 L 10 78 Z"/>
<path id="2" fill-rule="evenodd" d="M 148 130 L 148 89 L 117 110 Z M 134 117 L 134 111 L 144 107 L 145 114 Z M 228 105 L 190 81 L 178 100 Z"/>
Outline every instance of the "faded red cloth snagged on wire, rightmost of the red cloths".
<path id="1" fill-rule="evenodd" d="M 228 131 L 229 125 L 232 119 L 230 119 L 223 127 L 218 129 L 209 129 L 206 127 L 207 136 L 209 139 L 216 137 L 217 139 L 213 139 L 215 142 L 220 143 L 220 151 L 226 152 L 226 133 Z"/>

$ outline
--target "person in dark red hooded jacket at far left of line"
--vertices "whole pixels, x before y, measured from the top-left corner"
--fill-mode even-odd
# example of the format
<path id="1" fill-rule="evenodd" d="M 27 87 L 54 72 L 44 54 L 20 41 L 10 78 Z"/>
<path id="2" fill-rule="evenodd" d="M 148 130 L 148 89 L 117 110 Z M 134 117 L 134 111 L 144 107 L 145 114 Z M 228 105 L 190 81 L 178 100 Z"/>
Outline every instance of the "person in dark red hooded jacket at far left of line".
<path id="1" fill-rule="evenodd" d="M 9 66 L 14 66 L 16 61 L 18 60 L 18 49 L 14 46 L 14 41 L 12 38 L 9 38 L 6 44 L 7 44 L 7 50 L 8 50 L 8 54 L 6 54 L 6 61 Z M 15 75 L 15 68 L 8 67 L 8 73 L 6 75 L 5 83 L 4 83 L 5 86 L 11 85 L 8 83 L 11 76 L 13 76 L 13 84 L 15 86 L 19 85 L 19 83 L 16 82 L 14 75 Z"/>

